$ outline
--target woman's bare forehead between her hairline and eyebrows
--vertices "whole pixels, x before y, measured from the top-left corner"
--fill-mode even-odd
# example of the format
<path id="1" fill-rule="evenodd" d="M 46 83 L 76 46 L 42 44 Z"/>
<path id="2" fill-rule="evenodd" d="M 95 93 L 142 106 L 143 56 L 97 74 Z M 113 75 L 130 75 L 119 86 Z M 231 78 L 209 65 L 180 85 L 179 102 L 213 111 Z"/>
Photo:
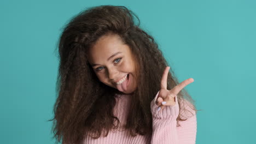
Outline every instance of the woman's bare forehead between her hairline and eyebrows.
<path id="1" fill-rule="evenodd" d="M 130 54 L 130 48 L 123 43 L 119 35 L 103 35 L 90 48 L 89 59 L 92 62 L 96 60 L 107 60 L 116 52 Z"/>

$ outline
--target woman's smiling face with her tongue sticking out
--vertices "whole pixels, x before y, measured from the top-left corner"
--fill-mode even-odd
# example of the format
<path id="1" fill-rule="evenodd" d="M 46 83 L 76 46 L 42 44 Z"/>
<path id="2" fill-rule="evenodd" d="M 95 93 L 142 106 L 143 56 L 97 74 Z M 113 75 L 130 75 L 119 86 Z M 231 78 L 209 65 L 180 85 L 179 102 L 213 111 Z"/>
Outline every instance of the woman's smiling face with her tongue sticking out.
<path id="1" fill-rule="evenodd" d="M 135 58 L 118 35 L 103 35 L 89 50 L 89 63 L 105 85 L 129 94 L 136 90 Z"/>

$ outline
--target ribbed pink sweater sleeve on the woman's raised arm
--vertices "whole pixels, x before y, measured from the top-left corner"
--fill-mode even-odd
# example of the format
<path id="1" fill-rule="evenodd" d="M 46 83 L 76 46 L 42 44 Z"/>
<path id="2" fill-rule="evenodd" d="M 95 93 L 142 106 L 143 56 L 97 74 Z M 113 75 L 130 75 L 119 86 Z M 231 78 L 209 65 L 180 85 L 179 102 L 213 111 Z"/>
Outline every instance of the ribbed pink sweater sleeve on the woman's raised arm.
<path id="1" fill-rule="evenodd" d="M 186 121 L 179 121 L 180 127 L 176 127 L 176 118 L 179 115 L 179 104 L 177 95 L 176 104 L 165 106 L 158 111 L 155 100 L 159 92 L 151 102 L 151 112 L 153 117 L 153 133 L 151 144 L 168 143 L 168 144 L 194 144 L 196 141 L 196 114 L 188 117 Z M 188 108 L 188 107 L 187 107 Z"/>

